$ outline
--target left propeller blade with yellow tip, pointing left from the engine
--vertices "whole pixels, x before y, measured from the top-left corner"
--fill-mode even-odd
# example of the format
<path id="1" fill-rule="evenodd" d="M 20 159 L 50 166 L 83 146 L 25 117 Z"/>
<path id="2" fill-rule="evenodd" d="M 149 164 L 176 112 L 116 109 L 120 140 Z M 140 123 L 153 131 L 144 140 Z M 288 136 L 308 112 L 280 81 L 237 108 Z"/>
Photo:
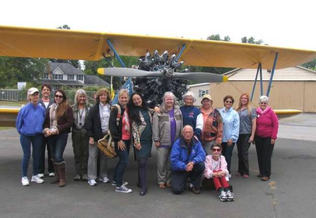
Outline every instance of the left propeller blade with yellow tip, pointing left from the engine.
<path id="1" fill-rule="evenodd" d="M 160 71 L 142 71 L 132 68 L 99 68 L 98 74 L 118 77 L 162 77 Z"/>

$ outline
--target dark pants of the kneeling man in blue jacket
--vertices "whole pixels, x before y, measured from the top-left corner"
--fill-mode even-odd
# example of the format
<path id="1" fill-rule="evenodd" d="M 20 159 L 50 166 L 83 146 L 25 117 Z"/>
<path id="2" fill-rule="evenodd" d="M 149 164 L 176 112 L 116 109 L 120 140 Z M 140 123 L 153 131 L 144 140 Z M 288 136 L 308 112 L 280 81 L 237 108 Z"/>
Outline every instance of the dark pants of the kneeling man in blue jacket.
<path id="1" fill-rule="evenodd" d="M 173 171 L 171 180 L 171 190 L 174 194 L 181 194 L 186 188 L 187 178 L 191 178 L 191 183 L 194 187 L 200 188 L 202 174 L 204 172 L 204 162 L 194 165 L 191 172 Z"/>

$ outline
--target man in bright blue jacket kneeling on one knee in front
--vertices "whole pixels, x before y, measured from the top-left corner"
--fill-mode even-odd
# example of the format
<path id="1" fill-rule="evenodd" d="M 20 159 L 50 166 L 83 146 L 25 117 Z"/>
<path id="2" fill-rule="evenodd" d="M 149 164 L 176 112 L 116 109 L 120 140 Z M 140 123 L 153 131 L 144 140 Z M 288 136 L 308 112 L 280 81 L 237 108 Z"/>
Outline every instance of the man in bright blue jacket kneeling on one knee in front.
<path id="1" fill-rule="evenodd" d="M 170 154 L 171 189 L 174 194 L 184 191 L 188 177 L 191 179 L 189 190 L 194 194 L 200 194 L 204 160 L 205 151 L 201 142 L 193 137 L 193 128 L 189 125 L 184 126 L 182 136 L 175 141 Z"/>

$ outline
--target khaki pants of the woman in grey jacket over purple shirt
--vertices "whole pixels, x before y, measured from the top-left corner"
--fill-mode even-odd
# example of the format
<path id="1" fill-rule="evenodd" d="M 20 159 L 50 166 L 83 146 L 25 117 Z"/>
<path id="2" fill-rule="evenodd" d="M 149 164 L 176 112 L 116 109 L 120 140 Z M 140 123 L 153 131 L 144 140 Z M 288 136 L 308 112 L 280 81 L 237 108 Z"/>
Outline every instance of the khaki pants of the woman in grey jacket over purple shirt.
<path id="1" fill-rule="evenodd" d="M 170 152 L 171 147 L 157 147 L 157 177 L 158 184 L 171 182 Z"/>

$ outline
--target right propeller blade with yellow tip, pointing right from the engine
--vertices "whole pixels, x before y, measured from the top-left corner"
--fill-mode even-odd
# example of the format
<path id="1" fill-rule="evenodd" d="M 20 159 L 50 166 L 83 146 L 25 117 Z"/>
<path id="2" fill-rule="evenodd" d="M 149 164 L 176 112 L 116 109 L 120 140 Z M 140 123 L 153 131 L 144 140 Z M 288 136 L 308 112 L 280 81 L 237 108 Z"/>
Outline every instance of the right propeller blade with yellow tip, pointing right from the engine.
<path id="1" fill-rule="evenodd" d="M 203 72 L 174 73 L 173 77 L 197 82 L 226 82 L 228 80 L 227 76 Z"/>

